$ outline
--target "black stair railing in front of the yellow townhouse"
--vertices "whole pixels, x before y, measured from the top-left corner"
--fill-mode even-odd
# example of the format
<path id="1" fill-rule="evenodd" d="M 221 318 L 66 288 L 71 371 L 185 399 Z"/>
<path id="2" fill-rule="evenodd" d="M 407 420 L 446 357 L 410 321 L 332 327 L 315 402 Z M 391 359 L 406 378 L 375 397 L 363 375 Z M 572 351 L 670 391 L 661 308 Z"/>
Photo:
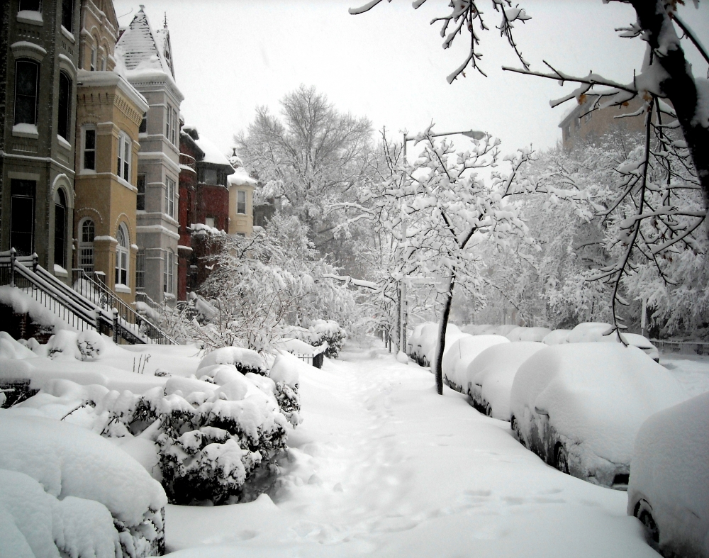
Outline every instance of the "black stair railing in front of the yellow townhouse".
<path id="1" fill-rule="evenodd" d="M 75 291 L 101 308 L 102 311 L 117 310 L 118 326 L 126 335 L 134 337 L 138 342 L 177 345 L 172 337 L 164 333 L 145 316 L 141 316 L 133 308 L 130 308 L 103 281 L 91 277 L 84 269 L 72 269 L 72 285 Z"/>

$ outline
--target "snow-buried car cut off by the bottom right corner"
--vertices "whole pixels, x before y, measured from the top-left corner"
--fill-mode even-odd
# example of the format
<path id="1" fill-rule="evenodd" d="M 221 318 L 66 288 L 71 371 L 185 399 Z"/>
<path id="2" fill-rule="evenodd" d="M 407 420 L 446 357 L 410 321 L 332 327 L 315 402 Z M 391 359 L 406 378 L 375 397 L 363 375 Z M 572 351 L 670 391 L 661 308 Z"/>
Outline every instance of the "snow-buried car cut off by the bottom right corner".
<path id="1" fill-rule="evenodd" d="M 643 423 L 627 513 L 644 523 L 664 556 L 709 557 L 709 393 Z"/>

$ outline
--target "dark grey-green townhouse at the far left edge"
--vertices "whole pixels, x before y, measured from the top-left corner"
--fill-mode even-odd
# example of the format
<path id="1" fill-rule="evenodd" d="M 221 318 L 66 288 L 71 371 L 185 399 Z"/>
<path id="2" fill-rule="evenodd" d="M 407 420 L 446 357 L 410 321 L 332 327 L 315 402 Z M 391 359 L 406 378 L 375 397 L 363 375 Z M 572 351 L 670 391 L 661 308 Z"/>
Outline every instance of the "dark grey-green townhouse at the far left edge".
<path id="1" fill-rule="evenodd" d="M 70 281 L 79 65 L 74 0 L 0 8 L 0 250 Z"/>

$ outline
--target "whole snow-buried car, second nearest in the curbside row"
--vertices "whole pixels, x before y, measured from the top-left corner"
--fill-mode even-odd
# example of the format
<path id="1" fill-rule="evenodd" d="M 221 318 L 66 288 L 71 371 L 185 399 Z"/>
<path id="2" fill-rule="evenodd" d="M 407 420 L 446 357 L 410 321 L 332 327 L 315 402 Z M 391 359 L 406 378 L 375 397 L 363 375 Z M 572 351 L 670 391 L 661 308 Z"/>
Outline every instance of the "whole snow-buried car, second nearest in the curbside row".
<path id="1" fill-rule="evenodd" d="M 511 427 L 525 447 L 560 471 L 625 488 L 640 425 L 685 399 L 674 376 L 637 347 L 555 345 L 518 369 Z"/>

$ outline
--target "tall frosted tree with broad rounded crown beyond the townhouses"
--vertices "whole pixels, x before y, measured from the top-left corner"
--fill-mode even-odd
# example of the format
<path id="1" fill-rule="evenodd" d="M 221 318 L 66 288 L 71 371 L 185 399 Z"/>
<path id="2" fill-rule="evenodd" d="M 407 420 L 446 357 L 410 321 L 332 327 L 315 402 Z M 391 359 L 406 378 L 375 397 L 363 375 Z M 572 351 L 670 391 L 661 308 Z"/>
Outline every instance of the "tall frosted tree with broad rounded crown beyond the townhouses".
<path id="1" fill-rule="evenodd" d="M 341 113 L 324 94 L 301 85 L 281 99 L 280 116 L 257 108 L 255 120 L 234 141 L 245 165 L 264 184 L 262 196 L 280 196 L 283 211 L 308 227 L 321 254 L 332 253 L 337 264 L 352 257 L 357 242 L 335 240 L 335 216 L 328 218 L 325 210 L 356 196 L 367 177 L 372 152 L 367 118 Z"/>

